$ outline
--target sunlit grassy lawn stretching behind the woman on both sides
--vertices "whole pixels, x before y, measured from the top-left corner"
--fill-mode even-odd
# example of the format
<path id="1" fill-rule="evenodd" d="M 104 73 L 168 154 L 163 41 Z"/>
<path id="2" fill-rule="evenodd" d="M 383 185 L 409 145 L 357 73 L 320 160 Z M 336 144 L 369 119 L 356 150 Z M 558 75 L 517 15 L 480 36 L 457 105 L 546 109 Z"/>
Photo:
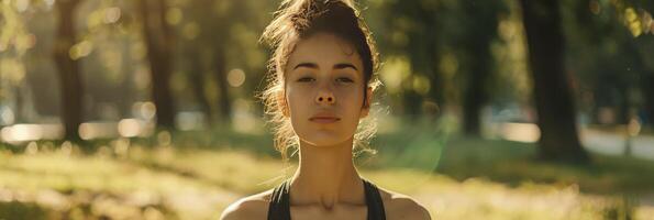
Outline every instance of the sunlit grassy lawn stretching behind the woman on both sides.
<path id="1" fill-rule="evenodd" d="M 372 143 L 378 154 L 357 164 L 436 219 L 654 216 L 653 162 L 594 155 L 591 165 L 552 164 L 533 160 L 533 144 L 400 130 L 381 133 Z M 0 146 L 0 219 L 217 219 L 295 170 L 262 148 L 268 140 L 179 133 L 173 142 L 98 141 L 91 153 L 69 143 Z"/>

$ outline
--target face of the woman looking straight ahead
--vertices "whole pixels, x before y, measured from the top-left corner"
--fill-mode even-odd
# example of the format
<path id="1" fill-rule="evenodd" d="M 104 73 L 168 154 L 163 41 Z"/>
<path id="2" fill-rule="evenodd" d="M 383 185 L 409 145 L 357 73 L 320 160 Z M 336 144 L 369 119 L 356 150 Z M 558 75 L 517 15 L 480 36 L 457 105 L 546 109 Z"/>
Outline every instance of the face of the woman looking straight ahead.
<path id="1" fill-rule="evenodd" d="M 286 114 L 301 141 L 332 146 L 353 139 L 369 108 L 363 63 L 350 43 L 328 33 L 301 40 L 285 73 Z"/>

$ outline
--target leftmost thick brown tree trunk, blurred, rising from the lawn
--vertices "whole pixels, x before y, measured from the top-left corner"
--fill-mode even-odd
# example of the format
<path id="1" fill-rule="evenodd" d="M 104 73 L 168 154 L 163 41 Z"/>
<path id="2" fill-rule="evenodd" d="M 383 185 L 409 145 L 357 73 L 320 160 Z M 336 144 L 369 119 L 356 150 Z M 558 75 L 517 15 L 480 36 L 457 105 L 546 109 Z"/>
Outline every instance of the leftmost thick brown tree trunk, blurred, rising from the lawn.
<path id="1" fill-rule="evenodd" d="M 59 0 L 56 2 L 59 23 L 54 47 L 54 59 L 62 87 L 62 121 L 65 139 L 79 141 L 79 124 L 82 120 L 81 95 L 82 85 L 79 76 L 79 64 L 69 55 L 75 45 L 75 9 L 79 0 Z"/>

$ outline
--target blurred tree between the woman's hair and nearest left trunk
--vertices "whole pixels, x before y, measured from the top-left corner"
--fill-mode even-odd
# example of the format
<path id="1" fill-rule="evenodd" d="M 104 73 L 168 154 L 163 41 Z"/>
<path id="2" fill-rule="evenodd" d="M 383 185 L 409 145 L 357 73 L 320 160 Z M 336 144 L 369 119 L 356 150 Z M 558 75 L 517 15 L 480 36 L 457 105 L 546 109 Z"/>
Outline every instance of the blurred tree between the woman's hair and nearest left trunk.
<path id="1" fill-rule="evenodd" d="M 257 2 L 258 3 L 258 2 Z M 191 67 L 191 80 L 199 87 L 203 87 L 200 80 L 213 79 L 215 82 L 215 100 L 211 100 L 204 95 L 203 88 L 195 88 L 193 94 L 197 97 L 199 106 L 207 111 L 212 120 L 222 120 L 229 123 L 231 120 L 231 94 L 228 84 L 228 63 L 236 57 L 229 57 L 228 51 L 234 45 L 234 33 L 232 29 L 247 22 L 252 13 L 247 13 L 245 1 L 214 1 L 198 0 L 188 3 L 189 24 L 197 25 L 198 32 L 193 37 L 186 41 L 185 47 L 189 56 L 188 64 L 196 65 Z M 199 66 L 198 66 L 199 65 Z M 206 73 L 212 73 L 208 76 Z M 211 103 L 217 103 L 217 112 L 211 111 Z"/>

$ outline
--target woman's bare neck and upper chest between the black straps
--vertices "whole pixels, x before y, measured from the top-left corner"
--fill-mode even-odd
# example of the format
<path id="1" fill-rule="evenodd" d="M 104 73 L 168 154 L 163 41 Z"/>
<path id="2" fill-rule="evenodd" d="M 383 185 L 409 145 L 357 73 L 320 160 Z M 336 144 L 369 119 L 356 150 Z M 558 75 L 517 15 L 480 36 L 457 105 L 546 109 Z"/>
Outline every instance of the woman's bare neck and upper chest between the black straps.
<path id="1" fill-rule="evenodd" d="M 291 205 L 365 205 L 364 187 L 352 161 L 350 139 L 333 146 L 300 141 L 300 165 L 291 180 Z"/>

